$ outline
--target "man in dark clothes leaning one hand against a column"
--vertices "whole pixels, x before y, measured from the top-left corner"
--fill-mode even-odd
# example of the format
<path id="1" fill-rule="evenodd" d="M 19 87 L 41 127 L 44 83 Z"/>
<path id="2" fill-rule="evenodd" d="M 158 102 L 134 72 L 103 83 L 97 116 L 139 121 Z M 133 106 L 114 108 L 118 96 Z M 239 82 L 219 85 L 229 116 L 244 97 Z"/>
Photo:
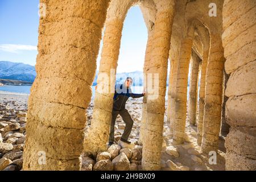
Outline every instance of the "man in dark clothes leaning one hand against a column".
<path id="1" fill-rule="evenodd" d="M 142 94 L 134 94 L 131 92 L 131 84 L 133 84 L 133 79 L 131 77 L 127 77 L 123 84 L 115 85 L 115 94 L 114 94 L 114 103 L 112 109 L 112 121 L 110 124 L 110 134 L 109 134 L 109 146 L 114 143 L 114 126 L 115 119 L 117 119 L 117 115 L 121 115 L 123 121 L 125 122 L 125 130 L 123 131 L 121 141 L 130 144 L 128 138 L 131 134 L 131 129 L 133 128 L 133 119 L 131 115 L 128 113 L 127 109 L 125 109 L 126 101 L 129 97 L 139 98 L 143 97 L 145 93 Z"/>

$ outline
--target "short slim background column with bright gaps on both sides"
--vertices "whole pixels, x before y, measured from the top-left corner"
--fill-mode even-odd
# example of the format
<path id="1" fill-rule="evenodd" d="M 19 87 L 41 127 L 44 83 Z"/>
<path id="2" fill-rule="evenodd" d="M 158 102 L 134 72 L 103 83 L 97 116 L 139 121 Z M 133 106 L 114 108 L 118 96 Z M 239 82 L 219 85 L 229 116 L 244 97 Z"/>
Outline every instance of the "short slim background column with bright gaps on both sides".
<path id="1" fill-rule="evenodd" d="M 196 103 L 197 103 L 197 81 L 199 75 L 200 59 L 195 52 L 192 52 L 192 63 L 189 81 L 189 102 L 188 115 L 190 125 L 196 124 Z"/>

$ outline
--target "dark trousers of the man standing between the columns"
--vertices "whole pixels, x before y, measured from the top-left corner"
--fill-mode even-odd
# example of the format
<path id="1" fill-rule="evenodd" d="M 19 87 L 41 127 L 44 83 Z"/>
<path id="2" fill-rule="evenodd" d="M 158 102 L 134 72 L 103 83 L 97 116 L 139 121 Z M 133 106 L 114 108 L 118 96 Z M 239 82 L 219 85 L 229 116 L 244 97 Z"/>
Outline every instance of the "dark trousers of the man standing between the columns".
<path id="1" fill-rule="evenodd" d="M 133 119 L 131 118 L 131 115 L 127 111 L 127 109 L 122 110 L 112 110 L 112 121 L 110 123 L 110 134 L 109 134 L 109 142 L 114 142 L 114 132 L 115 132 L 115 119 L 117 119 L 117 116 L 121 115 L 123 121 L 125 122 L 125 130 L 122 134 L 122 139 L 128 140 L 131 129 L 133 129 Z"/>

